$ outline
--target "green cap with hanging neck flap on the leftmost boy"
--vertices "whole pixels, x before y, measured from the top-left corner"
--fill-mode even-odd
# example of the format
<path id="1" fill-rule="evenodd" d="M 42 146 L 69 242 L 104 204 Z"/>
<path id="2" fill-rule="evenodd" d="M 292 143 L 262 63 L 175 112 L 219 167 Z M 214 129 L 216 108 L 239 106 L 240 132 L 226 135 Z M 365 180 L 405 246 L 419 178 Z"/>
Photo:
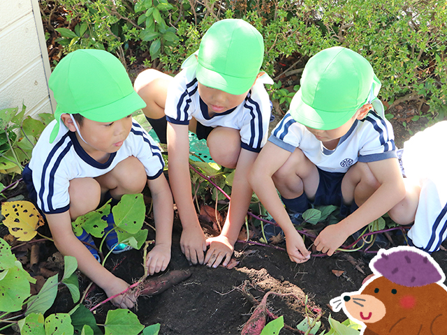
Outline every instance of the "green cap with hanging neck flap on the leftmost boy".
<path id="1" fill-rule="evenodd" d="M 86 119 L 112 122 L 146 107 L 133 90 L 121 61 L 104 50 L 76 50 L 66 55 L 50 75 L 57 120 L 50 143 L 59 133 L 61 114 L 81 114 Z"/>

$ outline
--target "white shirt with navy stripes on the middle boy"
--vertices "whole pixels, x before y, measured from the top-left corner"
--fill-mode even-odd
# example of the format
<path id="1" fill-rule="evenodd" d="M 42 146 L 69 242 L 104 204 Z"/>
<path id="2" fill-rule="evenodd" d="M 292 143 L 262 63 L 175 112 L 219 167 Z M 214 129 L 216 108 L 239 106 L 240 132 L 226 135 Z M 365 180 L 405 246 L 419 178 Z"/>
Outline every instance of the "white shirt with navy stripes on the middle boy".
<path id="1" fill-rule="evenodd" d="M 198 94 L 196 65 L 188 66 L 174 77 L 173 84 L 168 88 L 166 119 L 172 124 L 187 125 L 189 120 L 194 118 L 203 126 L 238 129 L 242 148 L 259 152 L 267 142 L 272 110 L 264 84 L 273 84 L 267 74 L 256 80 L 247 98 L 240 105 L 210 117 L 207 105 Z"/>

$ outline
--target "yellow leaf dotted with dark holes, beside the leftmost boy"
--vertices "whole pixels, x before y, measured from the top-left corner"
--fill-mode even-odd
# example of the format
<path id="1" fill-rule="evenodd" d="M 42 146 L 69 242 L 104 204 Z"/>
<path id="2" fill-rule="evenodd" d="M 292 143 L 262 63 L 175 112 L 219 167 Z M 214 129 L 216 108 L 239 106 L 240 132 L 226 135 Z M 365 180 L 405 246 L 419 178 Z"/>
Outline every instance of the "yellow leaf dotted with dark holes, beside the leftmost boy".
<path id="1" fill-rule="evenodd" d="M 5 217 L 3 224 L 19 241 L 30 241 L 44 224 L 41 214 L 29 201 L 3 202 L 1 214 Z"/>

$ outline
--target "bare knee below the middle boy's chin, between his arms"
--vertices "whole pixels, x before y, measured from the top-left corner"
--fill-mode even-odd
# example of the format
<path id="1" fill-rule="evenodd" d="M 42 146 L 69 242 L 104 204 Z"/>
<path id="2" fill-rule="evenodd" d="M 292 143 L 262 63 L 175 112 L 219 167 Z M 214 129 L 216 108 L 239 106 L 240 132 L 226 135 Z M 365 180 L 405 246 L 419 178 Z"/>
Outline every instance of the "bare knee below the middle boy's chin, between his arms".
<path id="1" fill-rule="evenodd" d="M 214 162 L 234 169 L 240 154 L 240 133 L 237 129 L 217 127 L 207 138 L 207 145 Z"/>

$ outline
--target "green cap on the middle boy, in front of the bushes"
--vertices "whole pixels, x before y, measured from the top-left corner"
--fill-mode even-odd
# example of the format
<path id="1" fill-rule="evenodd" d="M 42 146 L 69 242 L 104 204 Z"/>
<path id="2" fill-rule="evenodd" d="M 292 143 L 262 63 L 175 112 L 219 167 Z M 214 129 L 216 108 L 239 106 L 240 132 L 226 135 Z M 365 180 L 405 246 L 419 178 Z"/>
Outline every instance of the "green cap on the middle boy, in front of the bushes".
<path id="1" fill-rule="evenodd" d="M 197 80 L 229 94 L 244 94 L 263 64 L 263 36 L 248 22 L 226 19 L 207 30 L 198 49 Z"/>

